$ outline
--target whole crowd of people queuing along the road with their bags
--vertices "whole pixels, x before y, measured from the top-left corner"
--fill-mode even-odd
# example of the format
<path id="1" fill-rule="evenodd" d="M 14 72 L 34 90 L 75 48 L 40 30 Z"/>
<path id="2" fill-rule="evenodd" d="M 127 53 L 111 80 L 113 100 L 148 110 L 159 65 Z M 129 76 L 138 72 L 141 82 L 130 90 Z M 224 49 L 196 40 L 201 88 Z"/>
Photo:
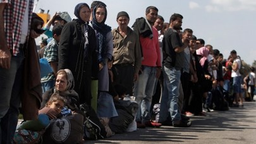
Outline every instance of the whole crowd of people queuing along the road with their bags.
<path id="1" fill-rule="evenodd" d="M 106 4 L 93 1 L 77 4 L 74 19 L 59 12 L 44 25 L 33 5 L 0 3 L 0 143 L 80 143 L 148 126 L 189 127 L 193 116 L 254 101 L 255 69 L 236 50 L 225 59 L 181 28 L 181 14 L 166 23 L 149 6 L 130 28 L 120 11 L 111 28 Z"/>

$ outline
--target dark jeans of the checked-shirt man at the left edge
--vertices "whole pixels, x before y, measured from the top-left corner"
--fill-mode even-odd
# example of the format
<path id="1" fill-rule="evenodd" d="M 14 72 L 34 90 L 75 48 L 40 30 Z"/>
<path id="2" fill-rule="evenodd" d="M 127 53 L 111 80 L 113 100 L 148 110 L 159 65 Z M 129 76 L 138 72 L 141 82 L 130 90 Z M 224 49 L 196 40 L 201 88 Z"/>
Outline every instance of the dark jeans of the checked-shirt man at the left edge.
<path id="1" fill-rule="evenodd" d="M 0 143 L 11 143 L 18 123 L 24 53 L 11 57 L 11 68 L 0 68 Z"/>

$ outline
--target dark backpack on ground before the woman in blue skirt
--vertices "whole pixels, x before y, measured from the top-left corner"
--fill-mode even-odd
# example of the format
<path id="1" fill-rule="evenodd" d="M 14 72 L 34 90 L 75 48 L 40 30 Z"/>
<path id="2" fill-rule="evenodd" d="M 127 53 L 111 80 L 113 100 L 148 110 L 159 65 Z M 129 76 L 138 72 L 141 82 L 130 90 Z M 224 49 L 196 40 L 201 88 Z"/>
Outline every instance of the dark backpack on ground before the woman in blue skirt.
<path id="1" fill-rule="evenodd" d="M 80 110 L 85 114 L 83 138 L 87 140 L 102 140 L 106 138 L 107 132 L 94 109 L 84 103 L 80 105 Z"/>

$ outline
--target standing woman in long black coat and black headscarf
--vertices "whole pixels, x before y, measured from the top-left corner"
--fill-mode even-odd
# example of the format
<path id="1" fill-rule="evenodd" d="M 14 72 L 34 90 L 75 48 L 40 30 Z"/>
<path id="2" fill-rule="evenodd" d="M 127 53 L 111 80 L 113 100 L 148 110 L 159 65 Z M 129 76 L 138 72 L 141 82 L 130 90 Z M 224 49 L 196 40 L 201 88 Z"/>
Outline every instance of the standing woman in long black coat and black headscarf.
<path id="1" fill-rule="evenodd" d="M 86 3 L 77 4 L 74 12 L 76 19 L 66 23 L 59 42 L 58 69 L 70 69 L 75 79 L 75 91 L 80 104 L 91 100 L 91 77 L 94 64 L 96 39 L 94 30 L 88 25 L 90 8 Z"/>

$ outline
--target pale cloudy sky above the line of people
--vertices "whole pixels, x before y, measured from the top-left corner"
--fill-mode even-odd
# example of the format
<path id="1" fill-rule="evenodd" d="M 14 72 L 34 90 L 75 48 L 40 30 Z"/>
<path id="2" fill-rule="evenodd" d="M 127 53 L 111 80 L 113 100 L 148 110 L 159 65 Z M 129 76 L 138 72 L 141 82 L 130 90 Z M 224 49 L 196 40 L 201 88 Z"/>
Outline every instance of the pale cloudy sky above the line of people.
<path id="1" fill-rule="evenodd" d="M 126 11 L 133 25 L 135 19 L 145 16 L 148 6 L 159 9 L 158 14 L 169 23 L 173 13 L 183 16 L 183 30 L 191 28 L 193 35 L 205 40 L 214 49 L 218 49 L 224 58 L 231 50 L 236 50 L 242 60 L 252 65 L 256 60 L 256 1 L 255 0 L 102 0 L 107 4 L 106 24 L 112 28 L 118 26 L 116 15 Z M 67 11 L 71 18 L 81 0 L 35 0 L 35 13 L 39 9 L 49 10 L 51 16 L 59 11 Z"/>

